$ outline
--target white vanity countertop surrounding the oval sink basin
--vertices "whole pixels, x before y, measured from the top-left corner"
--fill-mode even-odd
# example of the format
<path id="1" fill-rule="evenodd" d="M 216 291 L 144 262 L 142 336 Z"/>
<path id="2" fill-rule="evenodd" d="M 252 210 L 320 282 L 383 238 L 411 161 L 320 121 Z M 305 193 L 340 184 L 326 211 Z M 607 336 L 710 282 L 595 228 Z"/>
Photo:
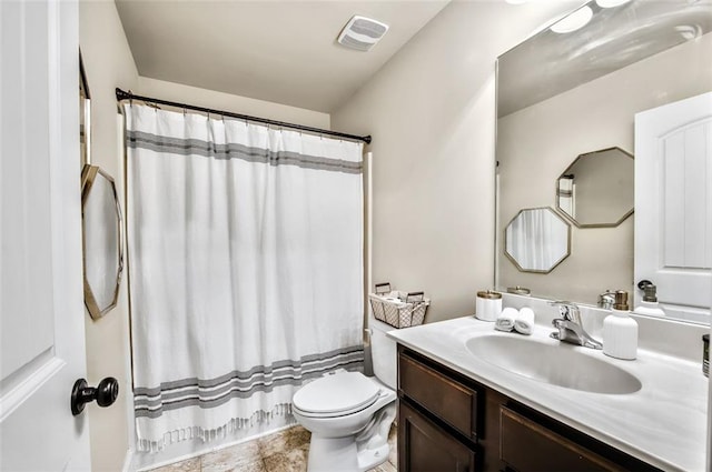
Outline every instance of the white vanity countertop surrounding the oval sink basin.
<path id="1" fill-rule="evenodd" d="M 532 335 L 558 344 L 548 338 L 552 331 L 536 325 Z M 704 470 L 708 378 L 702 374 L 701 361 L 642 349 L 635 361 L 622 361 L 602 351 L 566 345 L 620 366 L 643 385 L 630 394 L 590 393 L 532 380 L 478 360 L 465 342 L 487 334 L 521 337 L 496 331 L 494 323 L 474 317 L 388 332 L 398 343 L 662 470 Z"/>

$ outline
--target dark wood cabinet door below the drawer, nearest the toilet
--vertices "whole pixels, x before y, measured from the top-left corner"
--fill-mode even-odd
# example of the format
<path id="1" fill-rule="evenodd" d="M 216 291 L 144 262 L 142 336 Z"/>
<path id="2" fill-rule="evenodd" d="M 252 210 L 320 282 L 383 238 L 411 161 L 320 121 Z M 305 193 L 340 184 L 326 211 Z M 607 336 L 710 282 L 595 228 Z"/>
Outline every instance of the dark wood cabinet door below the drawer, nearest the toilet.
<path id="1" fill-rule="evenodd" d="M 475 452 L 398 401 L 399 472 L 474 472 Z"/>

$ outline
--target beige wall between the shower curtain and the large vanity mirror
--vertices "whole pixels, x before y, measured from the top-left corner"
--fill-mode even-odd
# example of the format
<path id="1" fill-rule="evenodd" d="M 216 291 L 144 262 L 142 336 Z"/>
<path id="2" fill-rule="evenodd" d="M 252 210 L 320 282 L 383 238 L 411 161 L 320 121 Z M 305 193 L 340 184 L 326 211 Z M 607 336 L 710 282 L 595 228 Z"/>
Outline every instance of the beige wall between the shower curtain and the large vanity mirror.
<path id="1" fill-rule="evenodd" d="M 428 322 L 494 282 L 495 59 L 571 8 L 453 2 L 332 113 L 374 138 L 374 282 L 424 290 Z"/>

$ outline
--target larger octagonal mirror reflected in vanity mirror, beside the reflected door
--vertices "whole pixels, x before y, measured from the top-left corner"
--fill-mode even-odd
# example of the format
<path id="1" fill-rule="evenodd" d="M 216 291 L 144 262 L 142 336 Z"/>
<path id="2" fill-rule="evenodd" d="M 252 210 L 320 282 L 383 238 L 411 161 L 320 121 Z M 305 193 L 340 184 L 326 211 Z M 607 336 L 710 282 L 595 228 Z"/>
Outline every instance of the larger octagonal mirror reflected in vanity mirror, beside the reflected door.
<path id="1" fill-rule="evenodd" d="M 633 213 L 633 155 L 620 148 L 578 155 L 556 182 L 556 207 L 578 228 L 617 227 Z"/>

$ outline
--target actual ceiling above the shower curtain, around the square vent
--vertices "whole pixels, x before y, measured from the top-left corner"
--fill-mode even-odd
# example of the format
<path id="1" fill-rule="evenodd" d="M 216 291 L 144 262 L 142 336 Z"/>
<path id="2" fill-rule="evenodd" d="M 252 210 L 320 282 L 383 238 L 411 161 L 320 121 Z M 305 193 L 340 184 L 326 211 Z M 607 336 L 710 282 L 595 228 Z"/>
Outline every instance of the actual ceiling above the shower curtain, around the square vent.
<path id="1" fill-rule="evenodd" d="M 115 0 L 142 77 L 332 112 L 449 0 Z M 336 42 L 354 16 L 390 27 L 369 52 Z"/>

